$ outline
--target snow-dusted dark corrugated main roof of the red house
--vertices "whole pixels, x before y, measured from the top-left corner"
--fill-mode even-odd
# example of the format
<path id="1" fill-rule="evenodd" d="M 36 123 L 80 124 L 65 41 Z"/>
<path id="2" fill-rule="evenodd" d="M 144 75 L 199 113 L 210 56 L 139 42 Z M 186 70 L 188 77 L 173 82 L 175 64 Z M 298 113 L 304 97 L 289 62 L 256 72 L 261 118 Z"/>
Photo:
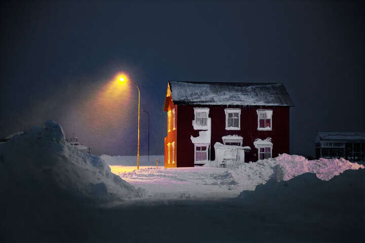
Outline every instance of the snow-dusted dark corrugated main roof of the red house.
<path id="1" fill-rule="evenodd" d="M 211 83 L 170 81 L 176 105 L 294 106 L 280 83 Z"/>

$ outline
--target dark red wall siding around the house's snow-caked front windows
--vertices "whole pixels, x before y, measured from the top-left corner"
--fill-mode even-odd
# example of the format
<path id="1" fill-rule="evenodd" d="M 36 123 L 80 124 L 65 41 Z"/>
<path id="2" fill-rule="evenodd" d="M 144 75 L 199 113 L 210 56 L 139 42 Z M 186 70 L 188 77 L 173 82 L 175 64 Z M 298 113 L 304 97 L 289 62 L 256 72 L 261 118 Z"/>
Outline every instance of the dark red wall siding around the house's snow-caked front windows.
<path id="1" fill-rule="evenodd" d="M 172 103 L 172 102 L 171 102 Z M 170 107 L 170 106 L 169 106 Z M 176 106 L 174 106 L 176 107 Z M 177 155 L 177 167 L 194 166 L 194 144 L 191 142 L 190 136 L 199 136 L 199 131 L 194 130 L 192 120 L 194 119 L 193 107 L 209 107 L 209 117 L 211 117 L 211 144 L 210 144 L 210 160 L 214 160 L 214 144 L 215 142 L 223 143 L 222 137 L 227 135 L 239 135 L 243 137 L 242 146 L 249 146 L 251 150 L 246 153 L 245 161 L 257 161 L 258 149 L 254 147 L 253 141 L 257 138 L 272 138 L 273 149 L 272 156 L 276 157 L 279 153 L 289 153 L 289 107 L 288 106 L 230 106 L 229 108 L 241 108 L 241 130 L 226 130 L 225 108 L 221 105 L 178 105 L 176 109 L 177 143 L 175 144 L 175 156 Z M 258 131 L 258 115 L 257 109 L 272 109 L 272 131 Z M 177 116 L 178 110 L 178 116 Z M 175 131 L 175 132 L 176 132 Z M 168 142 L 172 140 L 168 135 Z M 167 146 L 165 142 L 165 165 Z"/>

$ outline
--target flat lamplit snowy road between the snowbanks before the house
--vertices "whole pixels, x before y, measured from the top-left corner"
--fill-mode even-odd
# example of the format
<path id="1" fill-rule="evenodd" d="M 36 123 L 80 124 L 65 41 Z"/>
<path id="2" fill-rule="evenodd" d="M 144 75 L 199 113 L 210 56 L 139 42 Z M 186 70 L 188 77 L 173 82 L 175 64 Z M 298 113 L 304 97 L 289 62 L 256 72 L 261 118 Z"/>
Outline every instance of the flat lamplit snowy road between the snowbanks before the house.
<path id="1" fill-rule="evenodd" d="M 156 168 L 110 166 L 114 174 L 135 187 L 147 189 L 151 199 L 221 199 L 248 189 L 222 168 Z"/>

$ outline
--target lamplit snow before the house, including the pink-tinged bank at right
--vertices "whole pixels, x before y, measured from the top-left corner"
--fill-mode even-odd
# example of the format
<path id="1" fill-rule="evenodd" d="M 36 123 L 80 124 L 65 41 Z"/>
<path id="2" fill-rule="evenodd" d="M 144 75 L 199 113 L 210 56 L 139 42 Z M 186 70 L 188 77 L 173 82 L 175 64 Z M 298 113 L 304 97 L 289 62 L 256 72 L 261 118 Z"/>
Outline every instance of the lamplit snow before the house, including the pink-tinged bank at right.
<path id="1" fill-rule="evenodd" d="M 163 159 L 163 156 L 159 157 Z M 102 155 L 101 158 L 107 164 L 112 164 L 110 167 L 114 174 L 135 187 L 147 189 L 147 198 L 151 200 L 233 198 L 243 190 L 254 190 L 270 178 L 287 181 L 309 172 L 327 181 L 346 170 L 364 168 L 343 158 L 307 160 L 303 156 L 289 154 L 281 154 L 276 158 L 259 160 L 256 163 L 241 163 L 231 168 L 166 169 L 140 166 L 139 170 L 130 166 L 136 163 L 135 156 L 134 159 L 133 156 L 108 155 Z M 162 159 L 160 161 L 163 161 Z M 147 156 L 141 156 L 140 165 L 147 164 Z"/>

